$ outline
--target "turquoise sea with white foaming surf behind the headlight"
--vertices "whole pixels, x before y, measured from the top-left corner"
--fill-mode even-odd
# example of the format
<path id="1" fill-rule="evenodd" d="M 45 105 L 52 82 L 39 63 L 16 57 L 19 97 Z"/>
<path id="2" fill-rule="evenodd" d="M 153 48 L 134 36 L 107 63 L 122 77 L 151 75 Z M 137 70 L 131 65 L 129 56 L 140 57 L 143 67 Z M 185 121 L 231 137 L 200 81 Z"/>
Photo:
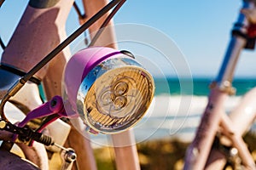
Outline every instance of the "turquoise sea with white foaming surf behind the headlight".
<path id="1" fill-rule="evenodd" d="M 132 128 L 135 142 L 154 139 L 191 142 L 206 108 L 212 81 L 211 77 L 154 78 L 153 102 L 141 122 Z M 223 104 L 227 114 L 236 109 L 244 94 L 256 87 L 256 78 L 235 78 L 232 85 L 236 94 Z M 252 131 L 256 130 L 255 124 L 250 128 Z M 90 140 L 96 147 L 113 144 L 111 135 L 106 134 L 92 135 Z"/>

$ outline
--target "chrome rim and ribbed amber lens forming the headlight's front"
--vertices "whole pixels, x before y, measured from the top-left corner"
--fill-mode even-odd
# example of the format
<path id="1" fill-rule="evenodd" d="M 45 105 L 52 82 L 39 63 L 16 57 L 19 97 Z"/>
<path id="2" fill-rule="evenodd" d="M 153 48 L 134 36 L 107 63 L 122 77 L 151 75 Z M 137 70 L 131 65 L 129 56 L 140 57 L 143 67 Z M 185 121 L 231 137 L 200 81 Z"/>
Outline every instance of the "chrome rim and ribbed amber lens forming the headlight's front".
<path id="1" fill-rule="evenodd" d="M 94 131 L 119 133 L 142 119 L 153 97 L 153 77 L 135 59 L 121 55 L 103 60 L 86 74 L 76 106 Z"/>

